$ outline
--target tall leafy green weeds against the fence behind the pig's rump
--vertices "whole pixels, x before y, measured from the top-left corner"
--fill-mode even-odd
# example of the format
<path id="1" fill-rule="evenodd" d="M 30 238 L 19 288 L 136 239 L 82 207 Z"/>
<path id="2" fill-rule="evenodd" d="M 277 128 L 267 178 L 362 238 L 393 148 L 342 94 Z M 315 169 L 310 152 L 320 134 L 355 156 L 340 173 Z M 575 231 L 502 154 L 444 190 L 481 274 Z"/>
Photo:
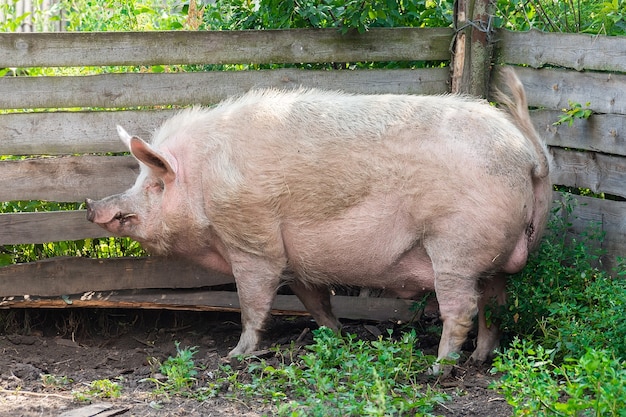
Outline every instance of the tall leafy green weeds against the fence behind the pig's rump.
<path id="1" fill-rule="evenodd" d="M 572 211 L 571 202 L 555 210 L 539 250 L 510 280 L 503 328 L 554 349 L 559 359 L 578 358 L 588 347 L 626 357 L 626 281 L 596 268 L 602 233 L 595 225 L 568 239 Z"/>

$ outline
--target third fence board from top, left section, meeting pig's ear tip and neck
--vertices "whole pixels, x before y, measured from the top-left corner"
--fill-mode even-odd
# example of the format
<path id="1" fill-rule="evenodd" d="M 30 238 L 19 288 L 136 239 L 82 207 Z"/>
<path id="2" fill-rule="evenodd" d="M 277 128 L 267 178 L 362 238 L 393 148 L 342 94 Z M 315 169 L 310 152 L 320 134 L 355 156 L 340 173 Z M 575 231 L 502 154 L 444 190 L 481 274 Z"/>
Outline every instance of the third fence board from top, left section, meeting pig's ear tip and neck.
<path id="1" fill-rule="evenodd" d="M 0 114 L 0 155 L 127 152 L 116 125 L 148 139 L 177 110 Z"/>

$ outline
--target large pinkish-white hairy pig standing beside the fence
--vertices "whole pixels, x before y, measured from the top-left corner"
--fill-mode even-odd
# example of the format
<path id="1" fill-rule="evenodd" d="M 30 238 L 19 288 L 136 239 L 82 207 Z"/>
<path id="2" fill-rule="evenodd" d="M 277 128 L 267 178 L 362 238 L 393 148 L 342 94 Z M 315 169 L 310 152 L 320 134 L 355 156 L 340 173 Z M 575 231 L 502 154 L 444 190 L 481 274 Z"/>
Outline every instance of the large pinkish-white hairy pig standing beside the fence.
<path id="1" fill-rule="evenodd" d="M 499 331 L 505 301 L 551 201 L 549 159 L 512 70 L 508 112 L 461 96 L 253 91 L 166 121 L 150 144 L 118 132 L 141 172 L 126 192 L 87 200 L 87 218 L 156 254 L 232 274 L 254 351 L 287 283 L 319 325 L 339 328 L 328 286 L 402 297 L 434 290 L 438 357 L 459 352 L 478 314 L 472 359 Z M 454 356 L 454 355 L 453 355 Z"/>

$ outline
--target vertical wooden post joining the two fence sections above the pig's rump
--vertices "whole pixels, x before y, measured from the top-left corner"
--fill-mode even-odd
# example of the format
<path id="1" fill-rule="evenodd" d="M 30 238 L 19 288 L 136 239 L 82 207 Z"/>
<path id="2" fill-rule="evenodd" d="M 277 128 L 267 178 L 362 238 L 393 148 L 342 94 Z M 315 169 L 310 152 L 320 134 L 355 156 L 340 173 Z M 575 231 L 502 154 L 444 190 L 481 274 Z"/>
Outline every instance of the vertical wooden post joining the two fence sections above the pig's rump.
<path id="1" fill-rule="evenodd" d="M 452 92 L 486 97 L 492 56 L 490 0 L 456 0 Z"/>

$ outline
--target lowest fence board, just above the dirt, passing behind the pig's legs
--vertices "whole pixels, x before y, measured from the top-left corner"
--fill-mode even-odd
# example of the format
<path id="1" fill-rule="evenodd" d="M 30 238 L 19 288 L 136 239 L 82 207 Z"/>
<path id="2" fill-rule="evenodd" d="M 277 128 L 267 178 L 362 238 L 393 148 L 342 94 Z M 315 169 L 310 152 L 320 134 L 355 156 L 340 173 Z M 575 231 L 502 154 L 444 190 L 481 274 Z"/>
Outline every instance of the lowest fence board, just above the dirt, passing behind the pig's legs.
<path id="1" fill-rule="evenodd" d="M 71 300 L 68 304 L 66 300 Z M 239 312 L 239 298 L 234 291 L 206 290 L 142 290 L 94 292 L 79 294 L 66 300 L 59 298 L 5 297 L 0 298 L 0 308 L 150 308 L 191 311 Z M 331 297 L 333 313 L 351 320 L 401 320 L 416 319 L 411 308 L 413 300 L 375 297 Z M 272 305 L 275 315 L 308 315 L 295 295 L 277 295 Z"/>

